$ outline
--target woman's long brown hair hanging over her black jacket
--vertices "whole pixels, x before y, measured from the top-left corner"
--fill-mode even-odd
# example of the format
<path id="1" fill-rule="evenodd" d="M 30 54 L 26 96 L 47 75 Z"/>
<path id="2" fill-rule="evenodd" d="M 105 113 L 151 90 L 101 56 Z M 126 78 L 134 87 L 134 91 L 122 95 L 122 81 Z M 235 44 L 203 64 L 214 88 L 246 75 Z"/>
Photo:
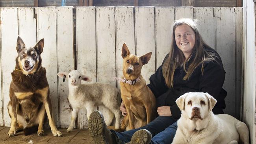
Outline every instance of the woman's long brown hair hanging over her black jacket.
<path id="1" fill-rule="evenodd" d="M 192 54 L 195 54 L 195 57 L 191 59 L 192 63 L 186 68 L 186 63 L 189 59 L 186 59 L 183 52 L 178 48 L 176 41 L 175 41 L 175 30 L 178 26 L 181 26 L 183 24 L 187 24 L 195 33 L 195 45 L 193 47 Z M 206 52 L 205 48 L 208 46 L 203 40 L 201 35 L 198 32 L 197 26 L 195 22 L 189 18 L 181 18 L 179 20 L 176 20 L 173 25 L 173 39 L 171 42 L 171 50 L 170 53 L 163 63 L 162 71 L 163 71 L 163 77 L 165 78 L 165 83 L 167 87 L 171 88 L 173 87 L 173 76 L 174 71 L 176 68 L 180 65 L 183 66 L 183 69 L 186 72 L 186 75 L 184 76 L 183 80 L 189 79 L 195 68 L 202 64 L 202 74 L 204 73 L 204 61 L 213 61 L 216 57 L 215 54 Z M 191 56 L 190 55 L 190 56 Z"/>

